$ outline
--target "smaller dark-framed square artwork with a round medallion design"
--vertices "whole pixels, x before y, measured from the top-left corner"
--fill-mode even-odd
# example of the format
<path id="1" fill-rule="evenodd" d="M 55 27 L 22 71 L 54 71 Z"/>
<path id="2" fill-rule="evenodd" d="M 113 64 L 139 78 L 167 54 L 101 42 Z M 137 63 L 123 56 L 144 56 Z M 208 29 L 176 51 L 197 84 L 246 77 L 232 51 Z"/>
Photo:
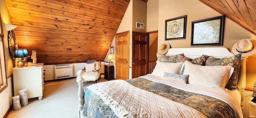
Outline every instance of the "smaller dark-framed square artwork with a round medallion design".
<path id="1" fill-rule="evenodd" d="M 186 38 L 187 16 L 180 16 L 165 20 L 164 40 L 185 39 Z"/>

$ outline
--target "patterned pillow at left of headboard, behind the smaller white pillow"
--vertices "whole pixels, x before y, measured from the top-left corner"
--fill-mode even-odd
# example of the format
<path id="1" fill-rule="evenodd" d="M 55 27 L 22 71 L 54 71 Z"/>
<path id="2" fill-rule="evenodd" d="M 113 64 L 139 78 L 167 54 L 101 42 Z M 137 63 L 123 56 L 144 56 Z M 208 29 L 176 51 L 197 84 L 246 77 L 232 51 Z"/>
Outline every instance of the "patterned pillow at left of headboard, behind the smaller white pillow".
<path id="1" fill-rule="evenodd" d="M 184 62 L 187 60 L 192 60 L 188 57 L 185 57 L 183 53 L 178 55 L 172 55 L 172 56 L 166 56 L 160 53 L 156 53 L 156 57 L 158 61 L 168 62 L 168 63 L 176 63 L 176 62 Z"/>

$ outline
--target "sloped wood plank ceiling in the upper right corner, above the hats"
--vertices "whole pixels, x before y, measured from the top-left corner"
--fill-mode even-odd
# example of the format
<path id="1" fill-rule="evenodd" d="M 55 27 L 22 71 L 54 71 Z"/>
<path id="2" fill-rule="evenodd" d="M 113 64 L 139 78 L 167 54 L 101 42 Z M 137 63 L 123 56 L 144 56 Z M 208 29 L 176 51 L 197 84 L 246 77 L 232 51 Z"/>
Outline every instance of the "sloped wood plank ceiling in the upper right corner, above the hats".
<path id="1" fill-rule="evenodd" d="M 256 35 L 256 0 L 199 0 Z"/>

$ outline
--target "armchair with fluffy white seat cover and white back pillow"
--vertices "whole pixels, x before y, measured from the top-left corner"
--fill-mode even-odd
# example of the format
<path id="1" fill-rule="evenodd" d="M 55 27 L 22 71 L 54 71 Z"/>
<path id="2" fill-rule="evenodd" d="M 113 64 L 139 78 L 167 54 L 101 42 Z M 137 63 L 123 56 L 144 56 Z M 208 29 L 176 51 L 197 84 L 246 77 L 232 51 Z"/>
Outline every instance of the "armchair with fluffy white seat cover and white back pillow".
<path id="1" fill-rule="evenodd" d="M 94 81 L 97 83 L 100 79 L 100 61 L 94 63 L 85 63 L 85 69 L 77 71 L 76 80 L 82 78 L 84 81 Z"/>

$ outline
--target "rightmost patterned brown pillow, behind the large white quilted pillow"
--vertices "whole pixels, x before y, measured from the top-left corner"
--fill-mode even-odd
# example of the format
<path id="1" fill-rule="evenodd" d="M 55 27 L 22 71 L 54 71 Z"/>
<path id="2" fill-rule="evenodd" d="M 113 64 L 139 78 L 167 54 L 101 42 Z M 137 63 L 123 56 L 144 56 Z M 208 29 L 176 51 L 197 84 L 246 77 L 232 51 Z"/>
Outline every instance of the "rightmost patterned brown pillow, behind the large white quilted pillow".
<path id="1" fill-rule="evenodd" d="M 238 81 L 238 71 L 239 71 L 239 65 L 240 65 L 240 59 L 241 59 L 241 53 L 231 56 L 229 58 L 222 58 L 222 59 L 217 59 L 214 57 L 208 57 L 206 59 L 206 66 L 216 66 L 216 65 L 230 65 L 234 67 L 234 72 L 231 75 L 230 79 L 228 80 L 228 83 L 226 84 L 227 89 L 229 90 L 236 90 L 237 87 L 237 81 Z"/>

